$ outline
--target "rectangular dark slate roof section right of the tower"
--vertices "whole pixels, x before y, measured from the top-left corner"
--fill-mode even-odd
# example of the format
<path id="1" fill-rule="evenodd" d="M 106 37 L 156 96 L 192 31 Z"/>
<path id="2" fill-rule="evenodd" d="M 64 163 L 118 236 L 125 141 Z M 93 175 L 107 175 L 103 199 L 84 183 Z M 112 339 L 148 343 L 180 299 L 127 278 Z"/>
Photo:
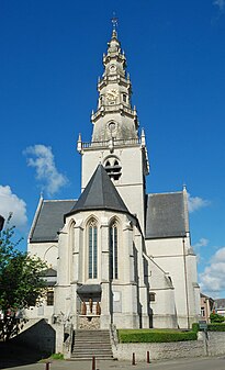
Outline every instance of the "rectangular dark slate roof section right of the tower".
<path id="1" fill-rule="evenodd" d="M 147 195 L 146 239 L 184 236 L 185 228 L 183 192 Z"/>

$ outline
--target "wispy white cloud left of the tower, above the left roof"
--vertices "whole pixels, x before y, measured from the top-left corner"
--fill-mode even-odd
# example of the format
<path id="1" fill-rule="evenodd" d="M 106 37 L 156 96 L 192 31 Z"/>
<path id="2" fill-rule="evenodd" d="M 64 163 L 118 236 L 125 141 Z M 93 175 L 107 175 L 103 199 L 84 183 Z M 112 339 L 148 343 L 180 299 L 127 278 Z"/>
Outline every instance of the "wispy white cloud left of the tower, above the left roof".
<path id="1" fill-rule="evenodd" d="M 36 179 L 41 181 L 42 190 L 48 195 L 55 194 L 68 183 L 65 175 L 58 172 L 52 148 L 45 145 L 30 146 L 24 150 L 27 156 L 27 165 L 34 167 Z"/>

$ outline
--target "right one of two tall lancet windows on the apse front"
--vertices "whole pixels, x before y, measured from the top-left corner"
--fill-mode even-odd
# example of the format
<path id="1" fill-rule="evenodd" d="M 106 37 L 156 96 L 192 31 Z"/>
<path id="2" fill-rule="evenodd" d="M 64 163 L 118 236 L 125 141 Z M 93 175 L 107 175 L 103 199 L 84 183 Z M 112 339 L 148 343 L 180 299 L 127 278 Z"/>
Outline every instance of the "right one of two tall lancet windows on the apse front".
<path id="1" fill-rule="evenodd" d="M 110 226 L 110 279 L 117 279 L 117 225 Z"/>

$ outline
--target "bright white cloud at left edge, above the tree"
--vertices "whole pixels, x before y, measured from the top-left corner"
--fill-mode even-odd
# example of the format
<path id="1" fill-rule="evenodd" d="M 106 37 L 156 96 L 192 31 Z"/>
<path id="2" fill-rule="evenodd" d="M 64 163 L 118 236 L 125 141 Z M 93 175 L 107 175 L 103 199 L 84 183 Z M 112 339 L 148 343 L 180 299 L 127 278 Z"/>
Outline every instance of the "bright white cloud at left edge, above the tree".
<path id="1" fill-rule="evenodd" d="M 0 186 L 0 214 L 7 220 L 12 213 L 12 224 L 23 229 L 27 223 L 26 203 L 13 194 L 9 186 Z"/>

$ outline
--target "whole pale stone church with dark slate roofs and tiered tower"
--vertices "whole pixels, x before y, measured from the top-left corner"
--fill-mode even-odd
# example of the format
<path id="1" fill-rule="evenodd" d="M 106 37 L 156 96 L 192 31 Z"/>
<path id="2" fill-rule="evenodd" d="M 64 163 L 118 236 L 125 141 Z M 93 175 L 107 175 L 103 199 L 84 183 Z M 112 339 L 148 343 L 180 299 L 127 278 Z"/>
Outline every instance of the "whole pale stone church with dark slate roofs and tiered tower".
<path id="1" fill-rule="evenodd" d="M 46 300 L 33 319 L 74 329 L 190 328 L 200 316 L 188 195 L 147 193 L 145 132 L 115 29 L 103 55 L 90 142 L 79 134 L 81 193 L 42 197 L 27 250 L 47 262 Z"/>

